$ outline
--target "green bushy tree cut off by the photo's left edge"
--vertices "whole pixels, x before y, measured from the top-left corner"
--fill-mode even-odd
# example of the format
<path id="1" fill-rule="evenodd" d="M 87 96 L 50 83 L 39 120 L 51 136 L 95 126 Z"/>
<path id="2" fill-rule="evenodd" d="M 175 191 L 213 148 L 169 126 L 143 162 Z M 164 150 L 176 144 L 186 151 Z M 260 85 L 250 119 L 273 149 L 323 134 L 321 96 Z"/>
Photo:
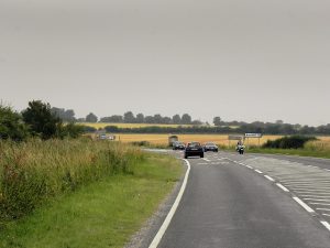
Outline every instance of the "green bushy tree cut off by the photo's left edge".
<path id="1" fill-rule="evenodd" d="M 0 140 L 24 140 L 29 136 L 28 127 L 22 121 L 22 116 L 11 107 L 0 105 Z"/>

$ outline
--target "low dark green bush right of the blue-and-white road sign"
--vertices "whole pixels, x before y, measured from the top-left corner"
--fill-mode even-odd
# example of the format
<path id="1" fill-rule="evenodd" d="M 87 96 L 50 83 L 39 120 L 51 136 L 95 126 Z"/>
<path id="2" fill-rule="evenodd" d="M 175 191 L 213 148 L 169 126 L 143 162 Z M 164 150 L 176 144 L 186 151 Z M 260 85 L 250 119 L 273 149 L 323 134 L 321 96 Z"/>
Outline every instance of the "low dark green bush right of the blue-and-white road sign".
<path id="1" fill-rule="evenodd" d="M 311 140 L 317 140 L 315 137 L 292 136 L 283 137 L 277 140 L 268 140 L 263 148 L 274 149 L 299 149 L 304 148 L 305 143 Z"/>

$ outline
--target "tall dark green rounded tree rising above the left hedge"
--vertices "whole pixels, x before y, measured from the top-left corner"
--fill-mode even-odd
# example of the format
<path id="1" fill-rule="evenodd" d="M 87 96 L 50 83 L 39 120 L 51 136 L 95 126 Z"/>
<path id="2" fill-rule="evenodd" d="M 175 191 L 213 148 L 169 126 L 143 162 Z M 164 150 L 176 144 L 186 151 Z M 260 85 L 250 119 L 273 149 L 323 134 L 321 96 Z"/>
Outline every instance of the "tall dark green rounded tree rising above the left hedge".
<path id="1" fill-rule="evenodd" d="M 22 116 L 32 136 L 50 139 L 58 134 L 62 120 L 52 114 L 50 104 L 44 104 L 41 100 L 30 101 Z"/>

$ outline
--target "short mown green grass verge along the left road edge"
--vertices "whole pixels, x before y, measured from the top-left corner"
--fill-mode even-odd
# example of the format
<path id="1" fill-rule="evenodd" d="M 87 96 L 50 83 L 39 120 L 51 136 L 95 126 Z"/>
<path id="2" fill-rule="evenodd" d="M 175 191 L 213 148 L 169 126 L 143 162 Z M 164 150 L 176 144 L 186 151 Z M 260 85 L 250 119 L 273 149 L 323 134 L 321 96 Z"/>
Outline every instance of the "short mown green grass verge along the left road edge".
<path id="1" fill-rule="evenodd" d="M 0 233 L 2 248 L 123 247 L 179 180 L 180 162 L 148 155 L 118 174 L 57 197 Z"/>

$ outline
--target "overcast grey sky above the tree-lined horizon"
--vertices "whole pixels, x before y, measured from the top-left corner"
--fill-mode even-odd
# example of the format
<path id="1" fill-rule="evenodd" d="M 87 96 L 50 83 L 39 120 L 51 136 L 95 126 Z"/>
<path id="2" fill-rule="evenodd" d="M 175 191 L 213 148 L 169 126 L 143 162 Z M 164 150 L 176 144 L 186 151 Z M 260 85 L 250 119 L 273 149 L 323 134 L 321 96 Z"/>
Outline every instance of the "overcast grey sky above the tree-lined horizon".
<path id="1" fill-rule="evenodd" d="M 330 1 L 0 0 L 0 99 L 330 122 Z"/>

